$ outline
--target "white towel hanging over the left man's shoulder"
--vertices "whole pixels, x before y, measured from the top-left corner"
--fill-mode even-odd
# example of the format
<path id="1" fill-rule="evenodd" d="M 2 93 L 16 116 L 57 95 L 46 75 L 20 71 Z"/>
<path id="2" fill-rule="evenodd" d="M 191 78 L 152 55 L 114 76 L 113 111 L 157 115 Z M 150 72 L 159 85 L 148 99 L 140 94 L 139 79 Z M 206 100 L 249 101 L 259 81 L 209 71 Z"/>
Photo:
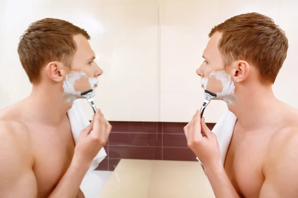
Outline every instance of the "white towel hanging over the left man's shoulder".
<path id="1" fill-rule="evenodd" d="M 71 127 L 72 127 L 72 132 L 74 136 L 74 142 L 76 144 L 76 141 L 78 139 L 78 135 L 81 130 L 86 128 L 90 122 L 85 115 L 85 112 L 83 108 L 77 103 L 77 100 L 74 100 L 73 107 L 67 112 L 70 122 L 71 122 Z M 92 131 L 91 131 L 92 133 Z M 105 152 L 104 148 L 101 148 L 97 155 L 94 157 L 94 160 L 91 163 L 90 169 L 94 170 L 97 168 L 98 164 L 107 156 L 107 153 Z"/>

